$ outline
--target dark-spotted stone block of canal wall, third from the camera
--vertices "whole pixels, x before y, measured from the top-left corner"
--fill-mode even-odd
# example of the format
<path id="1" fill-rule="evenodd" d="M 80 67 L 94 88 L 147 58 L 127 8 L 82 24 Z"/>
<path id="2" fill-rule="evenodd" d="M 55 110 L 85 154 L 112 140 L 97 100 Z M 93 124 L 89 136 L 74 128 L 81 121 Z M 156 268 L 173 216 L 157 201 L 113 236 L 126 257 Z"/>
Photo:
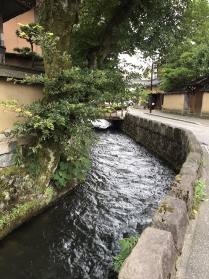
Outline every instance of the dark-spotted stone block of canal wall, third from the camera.
<path id="1" fill-rule="evenodd" d="M 196 180 L 195 174 L 179 174 L 170 185 L 169 196 L 185 201 L 187 212 L 191 212 L 193 208 Z"/>

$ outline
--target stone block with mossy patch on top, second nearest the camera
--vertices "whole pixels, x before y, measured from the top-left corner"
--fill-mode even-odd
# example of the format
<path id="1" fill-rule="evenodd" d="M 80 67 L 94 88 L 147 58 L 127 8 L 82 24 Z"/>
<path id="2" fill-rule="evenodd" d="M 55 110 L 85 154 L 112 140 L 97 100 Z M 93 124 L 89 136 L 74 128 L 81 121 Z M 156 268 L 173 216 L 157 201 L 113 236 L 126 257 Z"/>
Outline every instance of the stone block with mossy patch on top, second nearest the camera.
<path id="1" fill-rule="evenodd" d="M 187 230 L 187 206 L 179 198 L 166 196 L 159 203 L 152 220 L 152 227 L 170 232 L 180 256 Z"/>

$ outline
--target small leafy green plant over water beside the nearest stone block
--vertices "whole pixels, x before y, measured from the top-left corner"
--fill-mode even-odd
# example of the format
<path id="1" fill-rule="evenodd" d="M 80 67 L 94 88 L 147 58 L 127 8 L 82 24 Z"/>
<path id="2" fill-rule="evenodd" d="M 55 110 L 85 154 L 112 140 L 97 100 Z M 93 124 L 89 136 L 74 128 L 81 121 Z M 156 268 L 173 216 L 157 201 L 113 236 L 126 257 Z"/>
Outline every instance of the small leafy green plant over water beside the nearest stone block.
<path id="1" fill-rule="evenodd" d="M 121 246 L 121 252 L 118 257 L 113 257 L 116 260 L 114 271 L 119 272 L 124 260 L 129 256 L 132 248 L 136 245 L 140 235 L 131 236 L 130 238 L 124 238 L 119 240 Z"/>

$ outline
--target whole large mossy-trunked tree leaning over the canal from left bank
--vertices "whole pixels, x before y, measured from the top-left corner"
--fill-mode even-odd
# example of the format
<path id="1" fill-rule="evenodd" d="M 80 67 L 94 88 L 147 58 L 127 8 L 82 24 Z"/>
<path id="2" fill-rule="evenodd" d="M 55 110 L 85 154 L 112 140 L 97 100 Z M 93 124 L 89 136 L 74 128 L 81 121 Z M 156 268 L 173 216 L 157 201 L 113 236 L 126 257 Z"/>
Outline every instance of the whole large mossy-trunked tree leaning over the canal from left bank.
<path id="1" fill-rule="evenodd" d="M 43 35 L 45 76 L 33 81 L 45 85 L 43 99 L 41 105 L 30 106 L 33 114 L 18 133 L 37 133 L 38 141 L 31 150 L 40 157 L 45 152 L 42 166 L 51 166 L 43 171 L 42 183 L 46 184 L 61 154 L 74 166 L 74 175 L 82 177 L 77 174 L 88 165 L 90 120 L 98 118 L 91 105 L 131 96 L 123 71 L 117 67 L 118 54 L 134 54 L 140 49 L 145 57 L 156 52 L 164 55 L 182 40 L 190 1 L 39 0 L 37 4 L 40 2 L 40 25 L 49 33 Z M 33 81 L 27 78 L 27 82 Z M 70 138 L 71 145 L 67 144 Z"/>

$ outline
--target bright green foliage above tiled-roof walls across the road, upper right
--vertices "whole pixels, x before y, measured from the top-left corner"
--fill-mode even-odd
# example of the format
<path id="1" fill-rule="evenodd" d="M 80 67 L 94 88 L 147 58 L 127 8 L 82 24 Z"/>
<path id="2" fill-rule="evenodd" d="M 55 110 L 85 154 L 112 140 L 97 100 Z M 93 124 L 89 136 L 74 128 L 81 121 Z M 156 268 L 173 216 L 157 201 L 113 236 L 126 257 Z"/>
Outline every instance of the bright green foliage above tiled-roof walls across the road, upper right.
<path id="1" fill-rule="evenodd" d="M 170 91 L 186 86 L 200 75 L 209 74 L 209 3 L 194 0 L 189 4 L 192 21 L 182 41 L 166 56 L 166 64 L 159 73 L 162 77 L 161 89 Z"/>

